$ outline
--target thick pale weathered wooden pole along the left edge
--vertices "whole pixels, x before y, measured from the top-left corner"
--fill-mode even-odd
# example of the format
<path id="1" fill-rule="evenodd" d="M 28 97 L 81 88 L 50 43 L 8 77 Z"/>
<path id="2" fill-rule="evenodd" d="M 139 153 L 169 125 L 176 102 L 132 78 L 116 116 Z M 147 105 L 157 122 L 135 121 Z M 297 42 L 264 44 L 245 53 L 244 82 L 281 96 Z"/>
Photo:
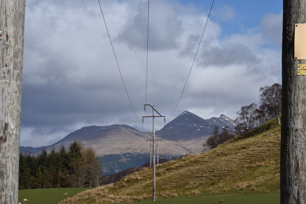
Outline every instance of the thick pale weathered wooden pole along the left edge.
<path id="1" fill-rule="evenodd" d="M 18 203 L 25 0 L 0 0 L 0 203 Z"/>

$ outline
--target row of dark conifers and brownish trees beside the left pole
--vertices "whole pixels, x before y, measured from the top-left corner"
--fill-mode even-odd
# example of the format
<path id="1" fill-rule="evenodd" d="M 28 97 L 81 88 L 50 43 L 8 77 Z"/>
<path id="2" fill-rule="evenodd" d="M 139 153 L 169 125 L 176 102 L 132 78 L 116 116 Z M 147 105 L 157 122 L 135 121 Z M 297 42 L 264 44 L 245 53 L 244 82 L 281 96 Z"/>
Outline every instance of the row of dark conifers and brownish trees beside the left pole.
<path id="1" fill-rule="evenodd" d="M 38 155 L 19 155 L 19 189 L 95 187 L 102 173 L 99 158 L 92 147 L 74 141 L 68 150 L 44 148 Z"/>

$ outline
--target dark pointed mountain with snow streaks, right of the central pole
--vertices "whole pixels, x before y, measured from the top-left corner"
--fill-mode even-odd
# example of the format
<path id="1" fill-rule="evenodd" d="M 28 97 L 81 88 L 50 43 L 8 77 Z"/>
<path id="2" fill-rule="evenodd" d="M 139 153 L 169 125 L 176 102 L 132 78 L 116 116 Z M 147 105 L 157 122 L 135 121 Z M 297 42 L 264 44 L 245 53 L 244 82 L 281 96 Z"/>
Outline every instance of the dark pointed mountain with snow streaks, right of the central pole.
<path id="1" fill-rule="evenodd" d="M 232 119 L 223 114 L 218 118 L 212 117 L 205 120 L 193 113 L 184 111 L 161 130 L 156 131 L 155 135 L 166 140 L 188 141 L 209 136 L 215 125 L 219 126 L 220 129 L 228 126 L 232 131 L 235 130 L 236 126 Z"/>

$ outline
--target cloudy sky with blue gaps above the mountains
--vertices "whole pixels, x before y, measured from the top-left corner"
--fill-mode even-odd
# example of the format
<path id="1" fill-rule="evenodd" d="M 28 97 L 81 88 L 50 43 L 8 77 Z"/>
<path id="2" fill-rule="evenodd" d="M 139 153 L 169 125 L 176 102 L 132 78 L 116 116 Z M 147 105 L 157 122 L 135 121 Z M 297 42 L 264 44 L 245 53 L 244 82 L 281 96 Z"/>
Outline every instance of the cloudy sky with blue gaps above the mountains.
<path id="1" fill-rule="evenodd" d="M 148 131 L 145 103 L 166 121 L 184 110 L 235 119 L 260 87 L 281 83 L 282 0 L 215 0 L 193 66 L 212 0 L 151 0 L 148 59 L 148 1 L 100 3 L 132 106 L 98 0 L 27 0 L 21 146 L 90 125 Z"/>

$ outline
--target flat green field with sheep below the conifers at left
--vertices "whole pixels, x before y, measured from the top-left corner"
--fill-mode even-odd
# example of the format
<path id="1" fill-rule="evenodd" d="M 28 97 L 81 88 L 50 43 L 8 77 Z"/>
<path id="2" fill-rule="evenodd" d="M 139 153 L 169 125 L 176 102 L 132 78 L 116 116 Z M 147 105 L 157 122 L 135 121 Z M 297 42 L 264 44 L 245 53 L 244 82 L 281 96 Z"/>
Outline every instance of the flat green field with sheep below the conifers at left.
<path id="1" fill-rule="evenodd" d="M 72 197 L 79 192 L 92 188 L 42 188 L 18 191 L 18 202 L 27 199 L 27 204 L 54 204 L 65 198 Z M 67 193 L 66 195 L 64 195 Z"/>

